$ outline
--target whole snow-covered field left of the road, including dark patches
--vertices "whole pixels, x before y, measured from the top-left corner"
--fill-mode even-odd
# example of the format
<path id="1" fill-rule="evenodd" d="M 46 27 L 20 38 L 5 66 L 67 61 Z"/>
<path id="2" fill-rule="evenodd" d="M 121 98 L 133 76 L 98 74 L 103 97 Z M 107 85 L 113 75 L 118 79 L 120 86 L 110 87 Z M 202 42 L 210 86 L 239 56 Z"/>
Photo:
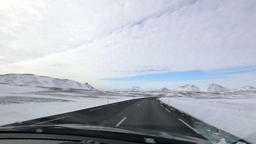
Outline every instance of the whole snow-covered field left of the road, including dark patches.
<path id="1" fill-rule="evenodd" d="M 0 126 L 105 105 L 108 96 L 109 103 L 143 97 L 110 91 L 0 84 Z"/>

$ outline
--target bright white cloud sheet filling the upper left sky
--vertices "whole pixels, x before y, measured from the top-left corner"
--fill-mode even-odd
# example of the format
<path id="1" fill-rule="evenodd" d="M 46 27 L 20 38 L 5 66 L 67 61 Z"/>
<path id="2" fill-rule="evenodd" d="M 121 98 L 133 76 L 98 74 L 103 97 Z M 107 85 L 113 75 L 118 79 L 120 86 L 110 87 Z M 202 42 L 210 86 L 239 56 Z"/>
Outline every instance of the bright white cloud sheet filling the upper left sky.
<path id="1" fill-rule="evenodd" d="M 166 2 L 1 0 L 0 5 L 0 54 L 6 55 L 0 63 L 13 63 L 108 36 L 165 8 Z"/>

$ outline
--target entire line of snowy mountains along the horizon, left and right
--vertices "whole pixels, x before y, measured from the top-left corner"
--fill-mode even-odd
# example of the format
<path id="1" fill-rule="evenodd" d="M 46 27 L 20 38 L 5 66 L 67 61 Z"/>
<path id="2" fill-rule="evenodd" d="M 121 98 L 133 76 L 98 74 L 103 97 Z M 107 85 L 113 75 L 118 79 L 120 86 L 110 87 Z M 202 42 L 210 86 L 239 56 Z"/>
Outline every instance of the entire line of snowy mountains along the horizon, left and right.
<path id="1" fill-rule="evenodd" d="M 9 73 L 0 75 L 0 84 L 10 84 L 10 85 L 28 85 L 28 86 L 41 86 L 41 87 L 55 87 L 55 88 L 71 88 L 71 89 L 83 89 L 83 90 L 97 90 L 93 88 L 90 84 L 80 83 L 73 80 L 67 79 L 57 79 L 46 76 L 38 76 L 35 74 L 16 74 Z M 142 90 L 139 86 L 133 86 L 130 89 L 125 90 Z M 202 90 L 199 87 L 193 84 L 185 84 L 178 88 L 173 89 L 173 91 L 229 91 L 229 89 L 211 83 L 206 87 L 206 89 Z M 232 89 L 236 91 L 256 91 L 255 87 L 252 86 L 244 86 L 237 89 Z M 162 88 L 160 91 L 170 91 L 168 88 Z"/>

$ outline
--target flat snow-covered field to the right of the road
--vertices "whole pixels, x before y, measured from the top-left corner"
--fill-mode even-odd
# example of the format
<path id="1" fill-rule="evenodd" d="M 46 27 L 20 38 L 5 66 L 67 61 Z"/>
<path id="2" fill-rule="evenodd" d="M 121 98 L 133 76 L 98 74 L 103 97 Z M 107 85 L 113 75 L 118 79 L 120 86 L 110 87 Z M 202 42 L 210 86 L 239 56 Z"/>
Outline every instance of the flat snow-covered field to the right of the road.
<path id="1" fill-rule="evenodd" d="M 256 91 L 175 92 L 170 104 L 248 142 L 256 142 Z M 169 98 L 160 98 L 166 104 Z"/>

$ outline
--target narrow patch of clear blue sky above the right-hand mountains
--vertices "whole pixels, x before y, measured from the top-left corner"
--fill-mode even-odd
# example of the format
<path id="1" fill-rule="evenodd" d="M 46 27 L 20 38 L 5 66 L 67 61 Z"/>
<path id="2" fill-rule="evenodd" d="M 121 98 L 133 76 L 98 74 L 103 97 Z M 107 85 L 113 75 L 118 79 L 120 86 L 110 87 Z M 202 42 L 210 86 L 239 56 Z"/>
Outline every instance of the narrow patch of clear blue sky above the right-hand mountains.
<path id="1" fill-rule="evenodd" d="M 140 72 L 149 72 L 151 70 L 145 70 Z M 192 80 L 210 80 L 210 79 L 221 79 L 231 74 L 256 72 L 256 67 L 242 67 L 233 69 L 221 69 L 221 70 L 210 70 L 210 71 L 187 71 L 187 72 L 166 72 L 166 73 L 154 73 L 146 75 L 137 75 L 133 77 L 123 78 L 109 78 L 103 80 L 109 81 L 192 81 Z"/>

